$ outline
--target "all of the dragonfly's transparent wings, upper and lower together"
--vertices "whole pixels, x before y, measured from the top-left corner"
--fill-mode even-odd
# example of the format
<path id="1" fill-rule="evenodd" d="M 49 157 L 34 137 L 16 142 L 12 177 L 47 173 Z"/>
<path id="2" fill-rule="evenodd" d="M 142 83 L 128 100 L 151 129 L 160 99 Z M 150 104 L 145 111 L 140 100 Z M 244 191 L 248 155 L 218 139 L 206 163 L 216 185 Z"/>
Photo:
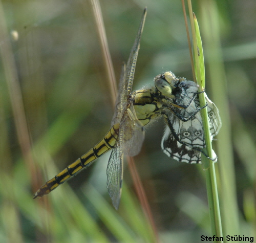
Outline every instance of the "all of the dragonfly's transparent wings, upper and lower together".
<path id="1" fill-rule="evenodd" d="M 137 56 L 139 52 L 140 39 L 145 23 L 146 9 L 144 9 L 138 34 L 132 48 L 129 59 L 122 66 L 122 73 L 119 81 L 118 96 L 115 105 L 114 116 L 111 124 L 120 123 L 119 136 L 111 152 L 108 167 L 106 169 L 107 187 L 112 203 L 118 209 L 122 179 L 123 179 L 123 152 L 134 156 L 140 151 L 143 142 L 143 129 L 136 118 L 133 104 L 130 101 L 130 93 L 133 85 L 133 78 Z M 130 104 L 129 104 L 130 103 Z"/>

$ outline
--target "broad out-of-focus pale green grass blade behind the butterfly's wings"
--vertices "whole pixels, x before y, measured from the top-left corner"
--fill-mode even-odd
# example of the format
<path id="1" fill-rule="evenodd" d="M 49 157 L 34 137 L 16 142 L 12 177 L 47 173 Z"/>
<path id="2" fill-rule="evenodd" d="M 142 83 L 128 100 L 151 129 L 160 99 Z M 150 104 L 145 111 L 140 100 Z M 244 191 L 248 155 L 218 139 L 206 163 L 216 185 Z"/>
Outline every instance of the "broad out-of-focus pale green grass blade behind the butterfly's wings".
<path id="1" fill-rule="evenodd" d="M 232 151 L 231 120 L 229 117 L 228 91 L 223 55 L 221 51 L 220 13 L 214 1 L 202 2 L 202 27 L 205 46 L 207 47 L 207 67 L 212 97 L 222 117 L 222 129 L 216 142 L 218 149 L 218 169 L 220 173 L 219 188 L 221 195 L 221 214 L 224 235 L 239 234 L 239 212 L 237 205 L 237 188 Z M 234 116 L 236 117 L 236 116 Z M 236 118 L 237 120 L 237 118 Z M 235 126 L 234 126 L 235 127 Z M 236 127 L 237 129 L 237 127 Z M 237 134 L 237 131 L 236 131 Z"/>

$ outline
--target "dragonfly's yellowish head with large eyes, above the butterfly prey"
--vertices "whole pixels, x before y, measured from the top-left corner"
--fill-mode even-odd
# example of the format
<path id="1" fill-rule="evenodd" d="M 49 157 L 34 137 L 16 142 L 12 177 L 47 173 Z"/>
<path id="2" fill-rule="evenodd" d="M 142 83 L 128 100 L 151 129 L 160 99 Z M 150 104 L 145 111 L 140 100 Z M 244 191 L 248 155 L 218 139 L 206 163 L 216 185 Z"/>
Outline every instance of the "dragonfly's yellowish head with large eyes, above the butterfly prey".
<path id="1" fill-rule="evenodd" d="M 173 87 L 176 84 L 176 76 L 172 72 L 159 74 L 154 78 L 156 89 L 164 96 L 172 97 Z"/>

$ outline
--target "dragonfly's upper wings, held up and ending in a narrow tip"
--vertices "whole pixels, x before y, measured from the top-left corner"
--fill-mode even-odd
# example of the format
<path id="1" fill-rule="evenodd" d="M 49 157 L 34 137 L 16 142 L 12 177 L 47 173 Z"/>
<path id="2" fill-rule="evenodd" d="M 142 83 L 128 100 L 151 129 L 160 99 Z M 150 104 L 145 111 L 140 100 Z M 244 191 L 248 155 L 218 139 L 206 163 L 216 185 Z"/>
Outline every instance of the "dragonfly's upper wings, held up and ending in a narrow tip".
<path id="1" fill-rule="evenodd" d="M 112 125 L 119 123 L 121 121 L 122 115 L 127 106 L 127 99 L 131 93 L 131 89 L 133 86 L 133 78 L 135 72 L 136 61 L 138 57 L 139 47 L 140 47 L 140 39 L 143 31 L 144 23 L 146 18 L 146 8 L 144 9 L 142 19 L 140 22 L 140 27 L 130 53 L 129 59 L 126 65 L 122 67 L 122 74 L 119 81 L 119 89 L 118 96 L 116 100 L 115 112 L 112 119 Z"/>

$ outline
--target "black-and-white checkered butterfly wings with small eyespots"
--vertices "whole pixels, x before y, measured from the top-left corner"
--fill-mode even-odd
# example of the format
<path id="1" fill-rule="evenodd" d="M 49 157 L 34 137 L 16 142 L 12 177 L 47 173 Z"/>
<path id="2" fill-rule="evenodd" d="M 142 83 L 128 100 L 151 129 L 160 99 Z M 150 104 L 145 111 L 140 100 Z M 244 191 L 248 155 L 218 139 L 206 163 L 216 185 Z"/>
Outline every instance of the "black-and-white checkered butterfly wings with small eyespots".
<path id="1" fill-rule="evenodd" d="M 207 96 L 206 100 L 212 139 L 220 130 L 221 119 L 216 105 Z M 193 106 L 197 107 L 194 100 L 191 105 L 191 111 Z M 205 139 L 200 112 L 186 122 L 180 120 L 174 113 L 166 112 L 165 121 L 167 126 L 161 146 L 167 156 L 180 162 L 201 163 L 200 152 L 205 148 Z"/>

